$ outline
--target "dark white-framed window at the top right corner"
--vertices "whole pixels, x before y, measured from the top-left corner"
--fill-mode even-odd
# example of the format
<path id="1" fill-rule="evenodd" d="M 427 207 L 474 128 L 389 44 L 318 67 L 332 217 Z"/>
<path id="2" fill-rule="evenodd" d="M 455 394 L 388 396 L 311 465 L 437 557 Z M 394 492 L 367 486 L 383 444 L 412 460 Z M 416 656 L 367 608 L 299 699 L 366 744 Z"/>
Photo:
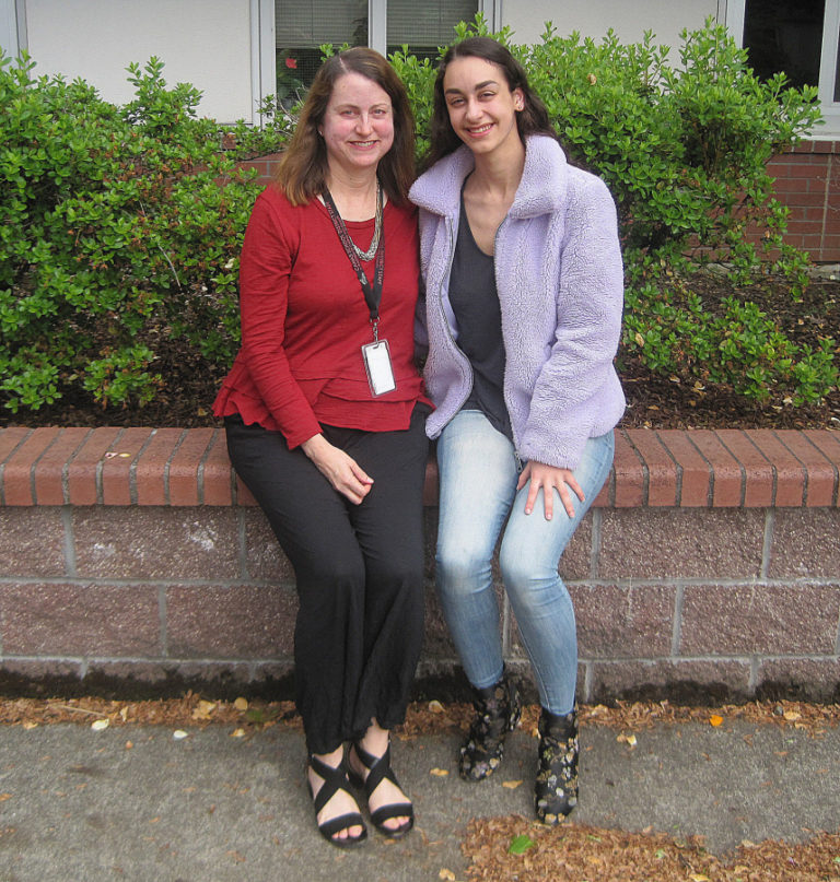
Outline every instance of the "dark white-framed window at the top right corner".
<path id="1" fill-rule="evenodd" d="M 726 24 L 761 79 L 817 86 L 826 125 L 812 134 L 840 137 L 840 0 L 728 0 Z"/>

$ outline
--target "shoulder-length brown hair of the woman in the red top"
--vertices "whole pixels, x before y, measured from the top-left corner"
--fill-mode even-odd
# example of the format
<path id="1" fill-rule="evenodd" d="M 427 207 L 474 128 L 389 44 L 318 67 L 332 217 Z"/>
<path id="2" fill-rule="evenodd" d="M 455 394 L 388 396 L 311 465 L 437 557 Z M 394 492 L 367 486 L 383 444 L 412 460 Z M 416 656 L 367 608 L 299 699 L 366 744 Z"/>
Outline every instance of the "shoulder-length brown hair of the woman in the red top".
<path id="1" fill-rule="evenodd" d="M 277 168 L 275 178 L 293 205 L 306 204 L 323 192 L 327 173 L 327 150 L 318 128 L 336 82 L 346 73 L 360 73 L 383 89 L 394 113 L 394 144 L 380 160 L 377 175 L 388 199 L 408 201 L 415 179 L 415 118 L 406 87 L 394 68 L 375 49 L 358 46 L 328 58 L 315 74 L 298 126 Z"/>

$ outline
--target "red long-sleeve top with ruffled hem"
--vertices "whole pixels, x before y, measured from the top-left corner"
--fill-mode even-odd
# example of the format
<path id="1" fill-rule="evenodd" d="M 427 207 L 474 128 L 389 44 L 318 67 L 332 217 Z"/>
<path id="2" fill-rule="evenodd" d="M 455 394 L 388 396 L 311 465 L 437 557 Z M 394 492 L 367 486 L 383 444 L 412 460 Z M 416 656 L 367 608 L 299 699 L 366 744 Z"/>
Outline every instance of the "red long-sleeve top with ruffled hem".
<path id="1" fill-rule="evenodd" d="M 366 249 L 374 221 L 347 222 Z M 380 339 L 387 339 L 397 388 L 374 398 L 361 346 L 373 340 L 359 280 L 325 205 L 293 208 L 276 187 L 257 197 L 240 266 L 242 348 L 213 402 L 247 424 L 280 431 L 290 448 L 320 424 L 387 432 L 407 428 L 423 396 L 415 364 L 420 268 L 417 212 L 392 202 L 383 214 L 385 272 Z M 373 282 L 374 261 L 363 262 Z"/>

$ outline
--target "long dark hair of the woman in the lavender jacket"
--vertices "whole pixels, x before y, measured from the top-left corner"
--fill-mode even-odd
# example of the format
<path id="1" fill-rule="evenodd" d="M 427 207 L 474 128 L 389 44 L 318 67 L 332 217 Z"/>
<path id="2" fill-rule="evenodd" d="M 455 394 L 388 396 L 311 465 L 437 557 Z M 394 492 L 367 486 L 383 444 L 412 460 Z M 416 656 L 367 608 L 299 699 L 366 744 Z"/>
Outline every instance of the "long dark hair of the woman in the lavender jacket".
<path id="1" fill-rule="evenodd" d="M 525 68 L 511 55 L 510 50 L 490 37 L 467 37 L 465 40 L 450 46 L 438 67 L 438 77 L 434 81 L 434 105 L 429 127 L 430 145 L 423 157 L 423 170 L 434 165 L 438 160 L 448 156 L 464 143 L 450 122 L 450 111 L 443 94 L 443 78 L 452 61 L 456 58 L 469 57 L 483 58 L 485 61 L 499 66 L 511 92 L 514 89 L 522 91 L 525 106 L 522 110 L 516 111 L 516 128 L 523 141 L 528 134 L 547 134 L 559 140 L 549 122 L 546 105 L 528 85 Z"/>

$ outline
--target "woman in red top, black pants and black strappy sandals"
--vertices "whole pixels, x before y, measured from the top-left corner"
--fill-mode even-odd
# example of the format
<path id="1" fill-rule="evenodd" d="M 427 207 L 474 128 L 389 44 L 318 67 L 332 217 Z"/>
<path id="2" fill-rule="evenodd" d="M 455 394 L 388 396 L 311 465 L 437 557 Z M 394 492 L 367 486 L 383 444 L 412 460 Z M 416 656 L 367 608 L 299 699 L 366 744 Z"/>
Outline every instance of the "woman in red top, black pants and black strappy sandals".
<path id="1" fill-rule="evenodd" d="M 295 573 L 298 708 L 318 828 L 413 824 L 389 764 L 423 616 L 429 404 L 415 364 L 413 121 L 387 61 L 355 48 L 312 85 L 242 251 L 242 349 L 213 410 Z M 351 743 L 345 756 L 345 742 Z"/>

